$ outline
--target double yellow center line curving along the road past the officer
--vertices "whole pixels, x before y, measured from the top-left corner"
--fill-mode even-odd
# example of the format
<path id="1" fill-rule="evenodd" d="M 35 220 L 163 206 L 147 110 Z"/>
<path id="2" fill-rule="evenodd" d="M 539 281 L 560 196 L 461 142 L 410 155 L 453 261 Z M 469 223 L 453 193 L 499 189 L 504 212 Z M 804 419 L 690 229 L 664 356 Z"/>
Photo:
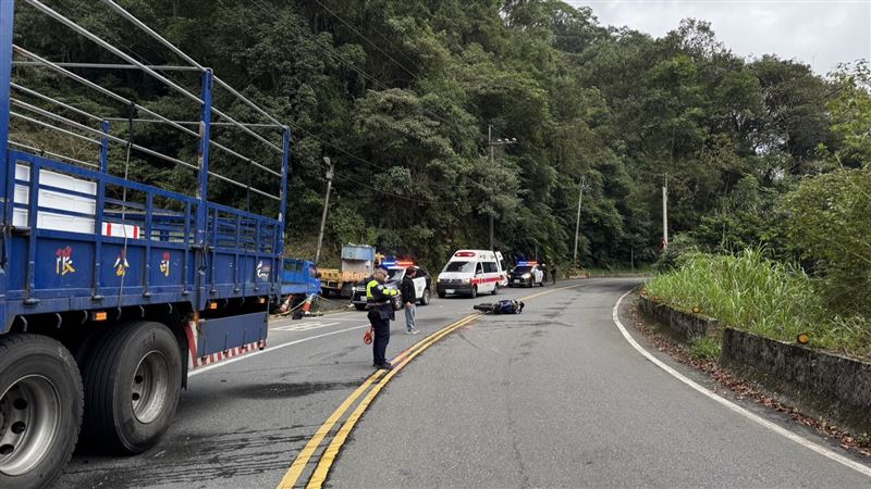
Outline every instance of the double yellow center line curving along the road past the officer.
<path id="1" fill-rule="evenodd" d="M 470 314 L 456 323 L 452 323 L 439 331 L 428 336 L 422 341 L 419 341 L 413 344 L 407 350 L 403 351 L 396 358 L 393 359 L 391 362 L 393 364 L 392 371 L 383 371 L 378 369 L 366 381 L 360 385 L 354 392 L 348 396 L 347 399 L 330 415 L 329 418 L 318 428 L 315 432 L 315 436 L 308 440 L 308 443 L 303 448 L 299 454 L 296 456 L 296 460 L 293 461 L 291 464 L 291 468 L 284 474 L 284 477 L 279 482 L 280 489 L 290 489 L 296 485 L 296 481 L 299 479 L 299 476 L 305 471 L 306 466 L 308 465 L 309 460 L 317 451 L 318 447 L 321 446 L 321 442 L 324 438 L 332 431 L 333 427 L 336 423 L 344 416 L 348 409 L 354 404 L 354 402 L 363 396 L 364 392 L 368 390 L 366 397 L 357 404 L 357 408 L 351 413 L 351 416 L 345 421 L 339 431 L 333 437 L 330 444 L 324 450 L 323 454 L 318 462 L 317 467 L 315 467 L 315 472 L 311 474 L 311 477 L 308 480 L 308 488 L 320 488 L 323 485 L 323 481 L 327 480 L 327 475 L 330 472 L 330 467 L 332 467 L 333 462 L 335 461 L 335 456 L 339 454 L 339 450 L 342 448 L 342 444 L 347 439 L 347 436 L 351 434 L 351 430 L 354 429 L 354 426 L 357 424 L 357 421 L 360 418 L 363 413 L 372 402 L 378 392 L 384 388 L 384 386 L 393 378 L 396 373 L 398 373 L 408 362 L 412 361 L 415 356 L 420 354 L 424 350 L 429 348 L 430 346 L 434 344 L 445 336 L 450 335 L 455 329 L 458 329 L 473 321 L 476 317 L 480 316 L 480 314 Z M 387 375 L 384 375 L 387 374 Z M 373 388 L 369 389 L 372 385 Z"/>

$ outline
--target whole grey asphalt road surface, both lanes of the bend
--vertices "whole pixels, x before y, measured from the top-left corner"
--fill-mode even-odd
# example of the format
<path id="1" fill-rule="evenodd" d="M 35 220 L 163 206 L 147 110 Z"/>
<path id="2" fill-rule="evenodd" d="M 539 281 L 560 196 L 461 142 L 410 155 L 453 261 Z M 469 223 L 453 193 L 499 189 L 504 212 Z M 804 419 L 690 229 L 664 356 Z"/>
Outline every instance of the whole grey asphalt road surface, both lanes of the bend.
<path id="1" fill-rule="evenodd" d="M 550 293 L 522 315 L 479 317 L 413 359 L 365 412 L 327 486 L 871 487 L 641 356 L 612 321 L 637 284 L 503 291 Z M 388 355 L 489 299 L 434 299 L 418 309 L 424 334 L 393 324 Z M 358 312 L 275 322 L 265 352 L 191 378 L 158 447 L 132 457 L 83 449 L 57 487 L 275 487 L 372 373 L 367 327 Z"/>

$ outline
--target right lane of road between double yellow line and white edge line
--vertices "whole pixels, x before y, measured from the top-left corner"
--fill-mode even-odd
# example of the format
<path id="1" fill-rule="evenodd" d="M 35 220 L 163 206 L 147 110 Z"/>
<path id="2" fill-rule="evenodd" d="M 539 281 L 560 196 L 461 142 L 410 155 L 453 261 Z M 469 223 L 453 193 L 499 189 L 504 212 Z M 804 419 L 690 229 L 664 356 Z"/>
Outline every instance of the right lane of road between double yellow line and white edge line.
<path id="1" fill-rule="evenodd" d="M 636 284 L 590 280 L 428 349 L 369 408 L 328 486 L 871 487 L 641 356 L 612 319 Z"/>

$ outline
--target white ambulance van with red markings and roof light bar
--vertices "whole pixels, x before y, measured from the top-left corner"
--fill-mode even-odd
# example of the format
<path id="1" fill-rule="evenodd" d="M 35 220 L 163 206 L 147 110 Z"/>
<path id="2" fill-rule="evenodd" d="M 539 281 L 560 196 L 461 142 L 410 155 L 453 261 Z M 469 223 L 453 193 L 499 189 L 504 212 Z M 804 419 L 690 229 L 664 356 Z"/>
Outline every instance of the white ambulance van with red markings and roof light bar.
<path id="1" fill-rule="evenodd" d="M 508 276 L 502 267 L 502 253 L 489 250 L 457 250 L 439 274 L 436 290 L 440 298 L 465 294 L 471 298 L 479 293 L 498 293 L 500 287 L 508 285 Z"/>

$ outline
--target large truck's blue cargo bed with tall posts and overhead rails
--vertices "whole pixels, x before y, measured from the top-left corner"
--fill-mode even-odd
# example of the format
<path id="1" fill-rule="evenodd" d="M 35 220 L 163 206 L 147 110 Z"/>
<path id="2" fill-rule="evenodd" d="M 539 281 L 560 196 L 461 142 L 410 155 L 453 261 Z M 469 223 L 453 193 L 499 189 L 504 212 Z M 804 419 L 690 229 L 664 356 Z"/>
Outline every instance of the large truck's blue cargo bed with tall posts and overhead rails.
<path id="1" fill-rule="evenodd" d="M 0 256 L 0 333 L 16 318 L 70 311 L 118 310 L 152 304 L 188 303 L 206 311 L 216 301 L 272 299 L 280 292 L 291 130 L 240 91 L 216 77 L 135 16 L 110 0 L 102 4 L 145 32 L 184 64 L 150 65 L 100 38 L 38 0 L 22 0 L 23 8 L 45 14 L 119 58 L 123 63 L 54 62 L 13 43 L 15 3 L 0 1 L 0 199 L 3 202 L 2 256 Z M 26 4 L 26 5 L 25 5 Z M 48 70 L 62 79 L 118 105 L 113 114 L 94 114 L 81 105 L 41 92 L 12 68 Z M 101 70 L 137 70 L 168 91 L 193 102 L 196 121 L 175 121 L 137 103 L 86 74 Z M 199 92 L 170 78 L 169 72 L 199 73 Z M 19 77 L 22 78 L 22 77 Z M 257 114 L 241 122 L 213 105 L 216 89 Z M 123 111 L 123 112 L 121 112 Z M 126 113 L 128 116 L 123 117 Z M 134 116 L 134 114 L 137 114 Z M 214 118 L 219 121 L 213 121 Z M 39 148 L 32 140 L 10 138 L 11 124 L 53 131 L 85 148 L 65 155 L 57 148 Z M 122 123 L 127 136 L 113 134 Z M 183 151 L 165 154 L 135 142 L 137 124 L 161 124 L 196 141 L 196 161 Z M 220 126 L 246 138 L 244 148 L 219 142 L 211 128 Z M 41 133 L 39 133 L 41 134 Z M 246 153 L 274 156 L 255 160 Z M 123 175 L 110 173 L 110 149 L 126 153 L 114 161 Z M 246 165 L 248 172 L 268 176 L 268 186 L 238 181 L 210 166 L 212 152 Z M 145 161 L 162 161 L 193 171 L 192 195 L 133 181 L 127 168 L 131 153 Z M 191 152 L 193 153 L 193 151 Z M 209 200 L 210 183 L 241 189 L 248 206 L 257 197 L 267 216 Z M 262 185 L 262 184 L 261 184 Z M 268 202 L 272 202 L 269 204 Z M 26 326 L 25 326 L 26 329 Z"/>

